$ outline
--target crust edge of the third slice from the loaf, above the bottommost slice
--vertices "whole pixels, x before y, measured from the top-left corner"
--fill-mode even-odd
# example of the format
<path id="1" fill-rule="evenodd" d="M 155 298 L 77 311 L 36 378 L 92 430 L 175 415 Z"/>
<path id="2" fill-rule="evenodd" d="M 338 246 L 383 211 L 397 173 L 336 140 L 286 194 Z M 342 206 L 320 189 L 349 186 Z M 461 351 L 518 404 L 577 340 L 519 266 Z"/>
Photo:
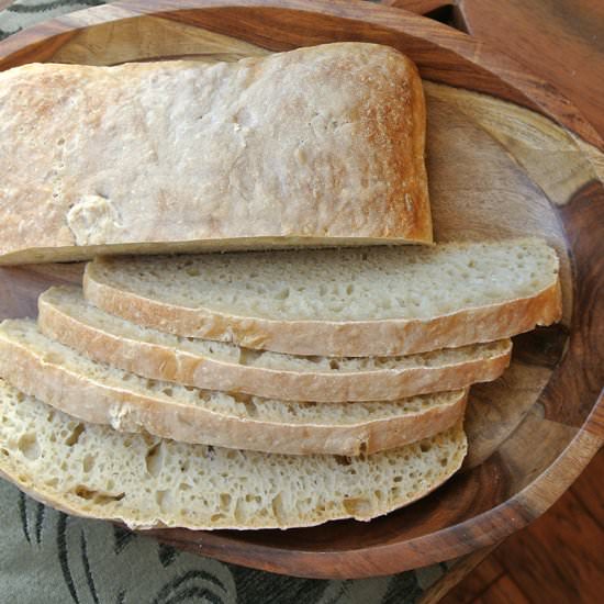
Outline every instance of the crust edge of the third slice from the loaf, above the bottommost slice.
<path id="1" fill-rule="evenodd" d="M 0 376 L 19 390 L 85 422 L 182 443 L 288 455 L 356 456 L 400 447 L 443 432 L 465 412 L 467 390 L 449 404 L 353 425 L 278 423 L 242 418 L 139 394 L 80 376 L 0 332 Z"/>

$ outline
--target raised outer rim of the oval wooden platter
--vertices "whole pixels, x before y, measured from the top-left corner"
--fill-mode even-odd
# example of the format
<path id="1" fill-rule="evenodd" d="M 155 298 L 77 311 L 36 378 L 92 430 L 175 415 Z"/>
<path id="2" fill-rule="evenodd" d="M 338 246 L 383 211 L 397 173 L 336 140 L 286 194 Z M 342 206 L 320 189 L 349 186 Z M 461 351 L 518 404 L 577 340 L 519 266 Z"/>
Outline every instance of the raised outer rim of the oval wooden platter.
<path id="1" fill-rule="evenodd" d="M 64 18 L 53 19 L 9 37 L 7 41 L 0 43 L 0 67 L 3 59 L 9 56 L 14 57 L 15 55 L 19 55 L 19 53 L 25 51 L 32 44 L 41 44 L 44 41 L 51 40 L 57 42 L 60 46 L 60 42 L 64 40 L 63 36 L 72 35 L 75 32 L 88 29 L 94 24 L 137 18 L 142 14 L 158 15 L 159 13 L 161 16 L 170 19 L 174 16 L 174 13 L 181 11 L 215 8 L 275 8 L 304 10 L 306 12 L 318 12 L 320 14 L 332 14 L 342 19 L 353 20 L 362 20 L 360 16 L 361 12 L 367 12 L 371 15 L 372 22 L 378 22 L 378 24 L 393 31 L 402 31 L 402 29 L 410 23 L 417 24 L 421 22 L 422 25 L 427 27 L 429 32 L 433 32 L 434 38 L 430 40 L 430 42 L 439 44 L 441 41 L 445 41 L 448 44 L 446 48 L 460 53 L 466 59 L 472 60 L 477 64 L 480 59 L 480 65 L 482 67 L 489 66 L 489 61 L 492 60 L 494 56 L 494 54 L 488 51 L 483 44 L 476 42 L 466 34 L 452 31 L 445 25 L 434 23 L 413 13 L 403 13 L 400 9 L 391 9 L 365 2 L 343 2 L 342 0 L 334 2 L 326 2 L 325 0 L 310 0 L 306 2 L 301 2 L 300 0 L 186 0 L 182 2 L 176 2 L 170 0 L 156 0 L 154 3 L 144 3 L 137 0 L 123 0 L 114 4 L 105 4 L 92 9 L 86 9 Z M 339 14 L 343 11 L 346 13 L 344 16 Z M 392 22 L 389 22 L 388 24 L 382 23 L 381 20 L 385 19 L 391 19 Z M 510 83 L 510 81 L 516 82 L 516 86 L 521 87 L 521 92 L 523 92 L 523 94 L 525 93 L 527 87 L 528 90 L 532 90 L 532 87 L 534 87 L 533 90 L 539 89 L 540 86 L 547 87 L 545 82 L 532 76 L 526 76 L 526 79 L 521 78 L 518 80 L 513 77 L 515 71 L 513 74 L 505 72 L 506 69 L 512 70 L 512 68 L 517 69 L 518 72 L 526 72 L 525 68 L 516 66 L 512 59 L 504 59 L 501 61 L 499 58 L 497 66 L 493 67 L 492 71 L 495 76 L 502 78 L 501 71 L 503 69 L 503 76 L 506 76 L 506 79 L 502 78 L 503 81 L 506 81 L 507 83 Z M 555 91 L 552 92 L 551 89 L 549 89 L 547 93 L 553 94 L 559 99 L 563 99 L 561 94 L 558 94 Z M 602 147 L 601 138 L 595 134 L 595 131 L 593 131 L 589 122 L 580 115 L 579 111 L 566 100 L 563 100 L 561 107 L 568 114 L 573 116 L 572 123 L 578 126 L 577 128 L 570 127 L 568 120 L 564 121 L 566 118 L 564 120 L 559 119 L 556 111 L 551 108 L 544 110 L 537 105 L 532 107 L 532 109 L 540 111 L 550 119 L 553 118 L 558 123 L 566 124 L 564 127 L 575 132 L 588 143 Z M 574 118 L 577 118 L 577 120 L 574 120 Z M 320 552 L 303 549 L 288 550 L 276 546 L 243 543 L 237 538 L 211 532 L 203 533 L 203 537 L 198 544 L 198 547 L 201 552 L 211 555 L 219 559 L 253 566 L 262 570 L 297 574 L 301 577 L 359 578 L 399 572 L 401 570 L 425 564 L 426 549 L 434 550 L 437 548 L 438 555 L 440 556 L 438 559 L 451 558 L 467 553 L 470 549 L 474 549 L 477 545 L 492 545 L 512 532 L 522 528 L 537 515 L 543 513 L 547 507 L 549 507 L 549 505 L 551 505 L 558 496 L 562 494 L 562 492 L 572 483 L 577 476 L 579 476 L 580 471 L 589 463 L 593 455 L 595 455 L 603 443 L 604 400 L 601 393 L 600 398 L 593 405 L 590 415 L 586 417 L 584 423 L 577 428 L 575 435 L 569 441 L 567 447 L 546 470 L 544 470 L 532 483 L 515 493 L 508 500 L 461 523 L 447 526 L 446 528 L 441 528 L 416 538 L 407 539 L 406 541 L 382 544 L 359 549 L 326 549 L 325 551 Z M 572 465 L 573 460 L 569 455 L 571 451 L 583 454 L 581 456 L 581 463 Z M 543 505 L 543 508 L 535 511 L 535 513 L 530 515 L 523 514 L 523 500 L 530 493 L 538 491 L 544 482 L 551 479 L 552 473 L 561 476 L 561 479 L 558 478 L 556 483 L 556 491 L 548 492 L 549 499 Z M 474 536 L 471 544 L 466 544 L 463 540 L 465 532 L 468 527 L 476 527 L 477 525 L 480 525 L 481 527 L 479 536 Z M 174 543 L 174 539 L 170 539 L 168 536 L 163 536 L 161 532 L 157 533 L 161 540 Z M 226 545 L 228 546 L 230 551 L 227 555 L 224 555 L 222 550 Z M 233 549 L 234 545 L 235 551 Z M 237 553 L 237 548 L 241 549 L 241 555 Z M 272 555 L 270 559 L 262 556 L 262 553 L 268 552 Z M 276 559 L 276 552 L 279 552 L 282 558 Z M 253 555 L 251 558 L 249 557 L 250 553 Z M 362 564 L 362 559 L 368 556 L 372 557 L 373 563 L 365 566 Z M 312 557 L 314 559 L 321 558 L 325 561 L 326 566 L 331 567 L 329 571 L 322 574 L 321 571 L 317 571 L 316 566 L 313 564 L 312 573 L 307 573 L 305 571 L 306 567 L 304 566 L 305 557 Z M 355 557 L 358 562 L 355 569 L 355 574 L 350 574 L 350 572 L 348 572 L 349 563 L 340 564 L 344 558 L 350 557 Z M 434 558 L 433 561 L 437 561 L 437 559 Z M 378 562 L 378 564 L 376 562 Z M 378 571 L 376 571 L 377 566 L 379 566 Z"/>

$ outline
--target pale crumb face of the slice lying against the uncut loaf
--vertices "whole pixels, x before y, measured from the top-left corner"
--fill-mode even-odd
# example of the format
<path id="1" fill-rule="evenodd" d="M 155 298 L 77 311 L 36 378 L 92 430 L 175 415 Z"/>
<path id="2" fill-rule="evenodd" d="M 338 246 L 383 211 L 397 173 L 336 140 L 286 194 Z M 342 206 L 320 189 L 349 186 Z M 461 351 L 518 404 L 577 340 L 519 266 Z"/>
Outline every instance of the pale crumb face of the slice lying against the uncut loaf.
<path id="1" fill-rule="evenodd" d="M 103 283 L 190 309 L 284 321 L 430 318 L 535 295 L 556 282 L 539 239 L 94 261 Z"/>

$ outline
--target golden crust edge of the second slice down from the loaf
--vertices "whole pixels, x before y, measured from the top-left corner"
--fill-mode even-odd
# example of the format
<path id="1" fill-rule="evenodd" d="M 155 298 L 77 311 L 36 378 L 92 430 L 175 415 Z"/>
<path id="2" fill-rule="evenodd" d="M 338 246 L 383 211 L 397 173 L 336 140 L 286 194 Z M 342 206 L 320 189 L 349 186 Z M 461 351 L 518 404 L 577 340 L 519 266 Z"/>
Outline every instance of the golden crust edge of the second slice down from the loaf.
<path id="1" fill-rule="evenodd" d="M 145 378 L 205 390 L 244 392 L 267 399 L 318 403 L 394 401 L 405 396 L 466 388 L 499 378 L 510 365 L 512 343 L 449 365 L 373 371 L 294 371 L 214 359 L 172 346 L 112 334 L 53 303 L 53 290 L 38 299 L 38 328 L 47 337 L 93 360 Z"/>

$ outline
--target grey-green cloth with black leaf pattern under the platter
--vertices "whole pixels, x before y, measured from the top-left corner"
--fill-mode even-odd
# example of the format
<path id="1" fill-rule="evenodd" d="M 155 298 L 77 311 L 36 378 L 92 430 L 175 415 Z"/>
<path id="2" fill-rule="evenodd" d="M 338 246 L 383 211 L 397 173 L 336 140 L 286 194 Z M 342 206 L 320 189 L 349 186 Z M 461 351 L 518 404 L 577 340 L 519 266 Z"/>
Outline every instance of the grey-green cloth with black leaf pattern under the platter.
<path id="1" fill-rule="evenodd" d="M 0 40 L 97 0 L 18 0 Z M 0 480 L 0 602 L 19 604 L 412 604 L 447 564 L 393 577 L 318 581 L 179 552 L 110 523 L 67 516 Z"/>

